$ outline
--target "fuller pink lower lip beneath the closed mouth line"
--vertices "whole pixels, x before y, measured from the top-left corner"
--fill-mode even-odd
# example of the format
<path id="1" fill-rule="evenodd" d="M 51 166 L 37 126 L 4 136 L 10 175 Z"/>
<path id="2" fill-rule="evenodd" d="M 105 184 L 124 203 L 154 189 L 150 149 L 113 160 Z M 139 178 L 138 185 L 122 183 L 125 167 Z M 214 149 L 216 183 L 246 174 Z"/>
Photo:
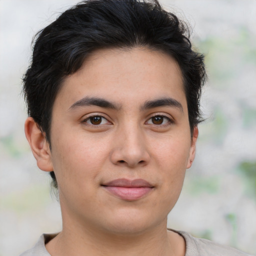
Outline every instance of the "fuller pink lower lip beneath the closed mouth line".
<path id="1" fill-rule="evenodd" d="M 111 194 L 127 201 L 134 201 L 148 194 L 152 187 L 104 186 Z"/>

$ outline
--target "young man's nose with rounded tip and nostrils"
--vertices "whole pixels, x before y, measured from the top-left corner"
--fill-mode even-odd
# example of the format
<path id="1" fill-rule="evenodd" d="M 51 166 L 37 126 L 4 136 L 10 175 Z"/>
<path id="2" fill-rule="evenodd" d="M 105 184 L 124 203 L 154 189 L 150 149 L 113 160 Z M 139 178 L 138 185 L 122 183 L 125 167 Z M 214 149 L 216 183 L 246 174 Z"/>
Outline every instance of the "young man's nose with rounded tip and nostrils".
<path id="1" fill-rule="evenodd" d="M 148 164 L 150 155 L 147 150 L 146 139 L 138 127 L 120 129 L 113 141 L 111 162 L 130 168 Z"/>

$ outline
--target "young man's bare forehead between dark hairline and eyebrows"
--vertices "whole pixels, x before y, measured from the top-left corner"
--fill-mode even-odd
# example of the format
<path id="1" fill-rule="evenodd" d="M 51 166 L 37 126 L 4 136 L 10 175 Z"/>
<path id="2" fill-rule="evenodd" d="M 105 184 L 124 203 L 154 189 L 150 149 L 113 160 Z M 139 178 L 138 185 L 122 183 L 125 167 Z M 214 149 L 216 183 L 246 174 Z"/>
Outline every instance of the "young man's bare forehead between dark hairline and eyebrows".
<path id="1" fill-rule="evenodd" d="M 176 61 L 159 50 L 100 49 L 64 79 L 56 101 L 70 106 L 86 96 L 120 104 L 166 96 L 184 101 L 182 74 Z"/>

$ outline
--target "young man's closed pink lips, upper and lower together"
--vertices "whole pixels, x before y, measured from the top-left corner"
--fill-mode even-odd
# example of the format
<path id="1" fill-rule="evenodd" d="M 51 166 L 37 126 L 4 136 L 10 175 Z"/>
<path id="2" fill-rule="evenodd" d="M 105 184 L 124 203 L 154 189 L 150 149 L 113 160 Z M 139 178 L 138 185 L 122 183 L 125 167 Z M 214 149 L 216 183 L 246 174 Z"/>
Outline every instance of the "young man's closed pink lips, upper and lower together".
<path id="1" fill-rule="evenodd" d="M 102 185 L 108 192 L 127 201 L 137 200 L 148 194 L 153 186 L 144 179 L 119 178 Z"/>

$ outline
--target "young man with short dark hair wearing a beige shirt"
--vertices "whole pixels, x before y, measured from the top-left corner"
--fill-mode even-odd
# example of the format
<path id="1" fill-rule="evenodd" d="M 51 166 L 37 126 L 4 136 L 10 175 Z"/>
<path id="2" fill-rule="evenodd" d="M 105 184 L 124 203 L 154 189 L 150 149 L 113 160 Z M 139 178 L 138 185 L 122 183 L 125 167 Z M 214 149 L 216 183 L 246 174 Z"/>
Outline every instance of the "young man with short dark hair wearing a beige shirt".
<path id="1" fill-rule="evenodd" d="M 37 33 L 25 135 L 63 224 L 21 255 L 246 255 L 166 227 L 205 76 L 187 26 L 157 0 L 84 0 Z"/>

